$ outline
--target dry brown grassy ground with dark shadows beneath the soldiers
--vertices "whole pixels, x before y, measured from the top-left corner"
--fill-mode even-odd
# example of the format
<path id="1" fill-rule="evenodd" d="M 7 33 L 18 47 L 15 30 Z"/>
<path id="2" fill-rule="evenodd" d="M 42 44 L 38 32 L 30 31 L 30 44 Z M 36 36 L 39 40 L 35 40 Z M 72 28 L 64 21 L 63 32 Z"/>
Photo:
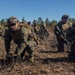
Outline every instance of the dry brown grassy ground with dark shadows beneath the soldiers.
<path id="1" fill-rule="evenodd" d="M 43 44 L 35 47 L 34 63 L 15 62 L 13 68 L 0 65 L 0 75 L 75 75 L 75 62 L 68 59 L 70 49 L 67 45 L 65 52 L 57 52 L 57 40 L 53 32 L 49 38 L 40 42 Z M 13 42 L 11 49 L 15 49 Z M 0 38 L 0 58 L 5 59 L 5 56 L 4 39 Z"/>

